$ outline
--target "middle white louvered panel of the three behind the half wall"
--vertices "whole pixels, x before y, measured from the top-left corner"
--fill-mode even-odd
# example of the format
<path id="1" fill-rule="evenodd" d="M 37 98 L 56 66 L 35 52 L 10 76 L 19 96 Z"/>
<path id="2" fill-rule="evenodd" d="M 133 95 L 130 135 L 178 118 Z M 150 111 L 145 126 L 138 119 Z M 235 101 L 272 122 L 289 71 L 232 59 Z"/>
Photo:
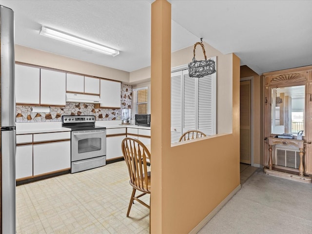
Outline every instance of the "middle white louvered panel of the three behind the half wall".
<path id="1" fill-rule="evenodd" d="M 196 129 L 196 78 L 183 70 L 183 133 Z"/>

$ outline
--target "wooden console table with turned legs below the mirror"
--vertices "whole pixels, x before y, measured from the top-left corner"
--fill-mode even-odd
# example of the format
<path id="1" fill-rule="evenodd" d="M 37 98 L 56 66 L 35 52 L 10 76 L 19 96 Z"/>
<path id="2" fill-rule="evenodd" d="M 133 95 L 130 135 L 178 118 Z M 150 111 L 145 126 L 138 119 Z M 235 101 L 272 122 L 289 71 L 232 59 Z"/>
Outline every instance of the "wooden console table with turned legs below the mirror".
<path id="1" fill-rule="evenodd" d="M 284 139 L 284 138 L 275 138 L 269 137 L 269 170 L 272 170 L 273 162 L 272 162 L 272 151 L 273 146 L 286 146 L 291 147 L 294 149 L 299 149 L 299 156 L 300 156 L 300 164 L 299 164 L 299 176 L 304 176 L 304 141 L 303 140 L 296 140 L 296 139 Z"/>

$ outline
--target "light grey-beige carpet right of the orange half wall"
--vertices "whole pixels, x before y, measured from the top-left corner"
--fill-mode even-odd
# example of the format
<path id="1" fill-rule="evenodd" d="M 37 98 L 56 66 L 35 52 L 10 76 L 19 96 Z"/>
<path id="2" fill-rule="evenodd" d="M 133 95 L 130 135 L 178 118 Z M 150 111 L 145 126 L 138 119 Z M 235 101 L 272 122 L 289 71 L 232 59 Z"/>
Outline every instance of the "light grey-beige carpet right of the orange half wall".
<path id="1" fill-rule="evenodd" d="M 312 184 L 259 169 L 198 234 L 312 234 Z"/>

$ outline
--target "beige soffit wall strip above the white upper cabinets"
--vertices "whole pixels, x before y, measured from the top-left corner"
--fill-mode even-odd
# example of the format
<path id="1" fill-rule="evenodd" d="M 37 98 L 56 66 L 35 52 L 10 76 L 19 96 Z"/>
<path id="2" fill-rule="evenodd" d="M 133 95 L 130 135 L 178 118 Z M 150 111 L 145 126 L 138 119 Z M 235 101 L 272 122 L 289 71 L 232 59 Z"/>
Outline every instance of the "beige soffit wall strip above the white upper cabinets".
<path id="1" fill-rule="evenodd" d="M 15 60 L 84 75 L 129 82 L 129 72 L 15 45 Z"/>

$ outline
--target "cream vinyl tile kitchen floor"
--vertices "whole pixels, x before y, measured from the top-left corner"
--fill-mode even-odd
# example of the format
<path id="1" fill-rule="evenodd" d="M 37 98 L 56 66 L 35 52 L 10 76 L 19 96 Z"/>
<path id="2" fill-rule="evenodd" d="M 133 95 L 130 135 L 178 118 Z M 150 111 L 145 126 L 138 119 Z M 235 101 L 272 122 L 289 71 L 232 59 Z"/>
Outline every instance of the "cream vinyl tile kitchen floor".
<path id="1" fill-rule="evenodd" d="M 17 234 L 148 234 L 148 208 L 126 217 L 131 192 L 124 161 L 17 186 Z"/>

